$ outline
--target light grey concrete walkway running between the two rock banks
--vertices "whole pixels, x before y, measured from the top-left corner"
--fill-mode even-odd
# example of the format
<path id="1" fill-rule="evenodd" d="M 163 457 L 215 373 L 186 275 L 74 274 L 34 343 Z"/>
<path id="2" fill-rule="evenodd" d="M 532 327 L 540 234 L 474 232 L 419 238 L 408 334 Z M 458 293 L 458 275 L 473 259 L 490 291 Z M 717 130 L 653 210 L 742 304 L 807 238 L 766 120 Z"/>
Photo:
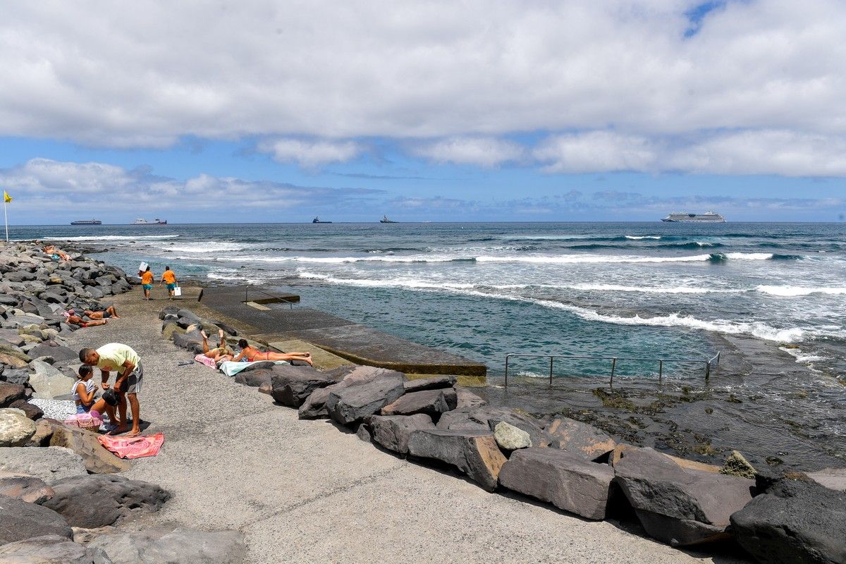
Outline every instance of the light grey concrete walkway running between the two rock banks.
<path id="1" fill-rule="evenodd" d="M 125 342 L 144 362 L 142 419 L 166 441 L 127 476 L 174 494 L 150 521 L 237 528 L 247 562 L 734 562 L 489 494 L 327 421 L 300 421 L 201 364 L 177 366 L 189 354 L 160 336 L 167 300 L 133 291 L 114 303 L 124 317 L 77 331 L 72 346 Z"/>

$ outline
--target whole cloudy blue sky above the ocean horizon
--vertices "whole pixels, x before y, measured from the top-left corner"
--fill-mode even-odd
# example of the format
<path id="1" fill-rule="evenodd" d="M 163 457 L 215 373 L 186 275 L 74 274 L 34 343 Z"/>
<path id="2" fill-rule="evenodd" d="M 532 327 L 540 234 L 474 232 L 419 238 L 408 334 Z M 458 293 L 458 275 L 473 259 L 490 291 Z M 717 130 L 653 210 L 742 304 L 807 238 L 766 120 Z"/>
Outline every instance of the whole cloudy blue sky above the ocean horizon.
<path id="1" fill-rule="evenodd" d="M 842 0 L 5 3 L 12 224 L 842 221 Z"/>

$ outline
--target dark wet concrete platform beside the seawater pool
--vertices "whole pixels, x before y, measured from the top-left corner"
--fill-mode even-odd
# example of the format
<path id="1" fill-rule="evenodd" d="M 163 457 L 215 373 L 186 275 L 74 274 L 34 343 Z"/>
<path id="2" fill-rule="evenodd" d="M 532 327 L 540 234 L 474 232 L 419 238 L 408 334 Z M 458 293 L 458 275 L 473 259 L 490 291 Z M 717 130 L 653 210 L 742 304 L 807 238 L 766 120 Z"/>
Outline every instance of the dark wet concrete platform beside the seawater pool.
<path id="1" fill-rule="evenodd" d="M 485 381 L 485 364 L 394 337 L 317 309 L 291 309 L 288 301 L 299 301 L 299 296 L 295 294 L 264 293 L 268 299 L 278 297 L 278 301 L 261 303 L 268 309 L 255 309 L 245 303 L 260 300 L 261 295 L 261 291 L 255 288 L 207 287 L 200 301 L 208 308 L 255 327 L 258 334 L 254 337 L 261 341 L 305 341 L 356 364 L 420 375 L 458 375 L 463 377 L 464 384 L 482 384 Z"/>

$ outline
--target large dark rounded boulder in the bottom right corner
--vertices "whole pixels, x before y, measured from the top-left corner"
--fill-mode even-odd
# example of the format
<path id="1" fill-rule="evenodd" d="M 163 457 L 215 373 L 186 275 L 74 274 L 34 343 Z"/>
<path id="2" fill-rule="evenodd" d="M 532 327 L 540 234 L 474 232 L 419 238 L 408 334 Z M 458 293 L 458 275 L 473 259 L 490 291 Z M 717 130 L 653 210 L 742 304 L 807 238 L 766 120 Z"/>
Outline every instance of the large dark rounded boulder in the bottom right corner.
<path id="1" fill-rule="evenodd" d="M 768 564 L 846 562 L 846 493 L 781 479 L 731 517 L 739 545 Z"/>

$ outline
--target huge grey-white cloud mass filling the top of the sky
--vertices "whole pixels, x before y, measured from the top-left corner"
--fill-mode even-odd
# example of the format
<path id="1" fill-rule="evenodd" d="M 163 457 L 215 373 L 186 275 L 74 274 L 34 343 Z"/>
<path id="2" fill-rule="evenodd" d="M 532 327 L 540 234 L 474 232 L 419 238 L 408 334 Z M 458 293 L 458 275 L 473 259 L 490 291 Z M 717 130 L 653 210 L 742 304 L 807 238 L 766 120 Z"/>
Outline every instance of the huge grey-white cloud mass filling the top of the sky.
<path id="1" fill-rule="evenodd" d="M 846 140 L 843 36 L 839 0 L 9 3 L 0 135 L 268 138 L 304 167 L 384 138 L 492 167 L 549 132 L 550 172 L 843 175 L 811 158 Z"/>

